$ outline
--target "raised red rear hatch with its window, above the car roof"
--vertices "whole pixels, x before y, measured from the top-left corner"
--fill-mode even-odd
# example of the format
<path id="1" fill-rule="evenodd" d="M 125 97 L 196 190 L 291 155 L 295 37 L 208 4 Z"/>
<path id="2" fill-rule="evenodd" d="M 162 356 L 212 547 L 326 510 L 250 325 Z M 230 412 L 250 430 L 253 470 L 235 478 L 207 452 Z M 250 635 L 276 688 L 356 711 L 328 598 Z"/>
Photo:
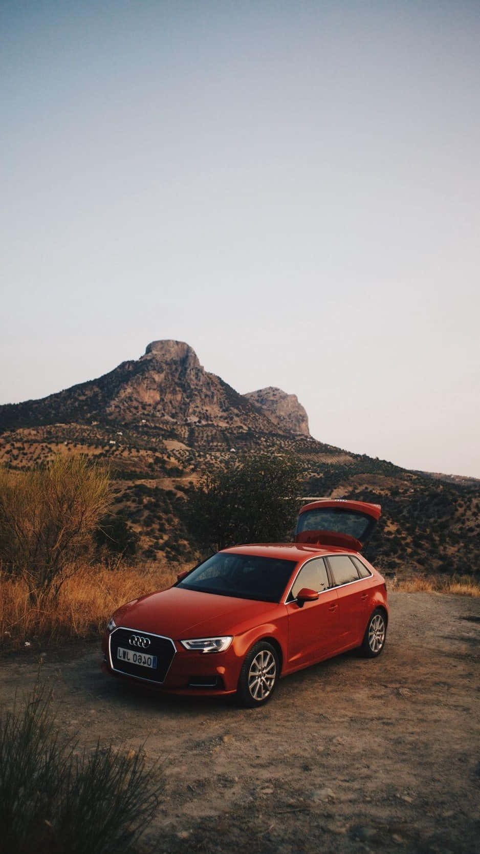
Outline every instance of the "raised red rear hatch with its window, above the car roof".
<path id="1" fill-rule="evenodd" d="M 360 552 L 372 536 L 382 512 L 379 504 L 321 498 L 301 507 L 295 541 L 337 546 Z"/>

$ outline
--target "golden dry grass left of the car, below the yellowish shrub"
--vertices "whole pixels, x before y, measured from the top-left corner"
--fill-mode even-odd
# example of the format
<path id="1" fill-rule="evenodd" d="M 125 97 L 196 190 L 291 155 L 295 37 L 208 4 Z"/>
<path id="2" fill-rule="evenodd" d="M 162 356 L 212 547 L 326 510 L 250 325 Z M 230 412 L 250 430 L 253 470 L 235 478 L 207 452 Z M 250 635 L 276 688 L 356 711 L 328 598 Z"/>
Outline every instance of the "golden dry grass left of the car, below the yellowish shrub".
<path id="1" fill-rule="evenodd" d="M 85 566 L 69 578 L 56 602 L 32 606 L 26 583 L 0 573 L 0 643 L 12 646 L 35 639 L 88 638 L 102 633 L 108 617 L 125 602 L 170 587 L 189 567 L 176 565 Z"/>

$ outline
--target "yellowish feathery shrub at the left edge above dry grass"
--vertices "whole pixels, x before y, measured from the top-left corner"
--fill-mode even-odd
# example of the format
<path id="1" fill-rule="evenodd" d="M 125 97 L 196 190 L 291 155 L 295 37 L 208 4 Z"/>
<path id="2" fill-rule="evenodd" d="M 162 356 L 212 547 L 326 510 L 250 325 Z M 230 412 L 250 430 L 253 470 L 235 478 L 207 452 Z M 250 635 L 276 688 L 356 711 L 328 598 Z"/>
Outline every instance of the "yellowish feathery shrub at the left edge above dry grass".
<path id="1" fill-rule="evenodd" d="M 110 501 L 108 471 L 85 457 L 57 454 L 28 471 L 0 468 L 0 560 L 26 580 L 32 601 L 58 595 Z"/>

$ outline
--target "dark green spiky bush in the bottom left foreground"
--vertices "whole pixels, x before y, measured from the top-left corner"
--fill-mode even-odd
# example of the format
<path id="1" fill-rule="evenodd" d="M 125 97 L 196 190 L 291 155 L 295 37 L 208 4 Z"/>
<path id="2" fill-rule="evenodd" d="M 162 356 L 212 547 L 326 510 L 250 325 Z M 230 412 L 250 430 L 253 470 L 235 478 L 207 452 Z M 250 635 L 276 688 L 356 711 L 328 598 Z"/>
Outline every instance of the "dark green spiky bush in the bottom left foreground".
<path id="1" fill-rule="evenodd" d="M 151 821 L 160 786 L 140 752 L 61 740 L 50 695 L 36 688 L 0 722 L 0 839 L 15 854 L 126 851 Z M 128 849 L 127 849 L 128 850 Z"/>

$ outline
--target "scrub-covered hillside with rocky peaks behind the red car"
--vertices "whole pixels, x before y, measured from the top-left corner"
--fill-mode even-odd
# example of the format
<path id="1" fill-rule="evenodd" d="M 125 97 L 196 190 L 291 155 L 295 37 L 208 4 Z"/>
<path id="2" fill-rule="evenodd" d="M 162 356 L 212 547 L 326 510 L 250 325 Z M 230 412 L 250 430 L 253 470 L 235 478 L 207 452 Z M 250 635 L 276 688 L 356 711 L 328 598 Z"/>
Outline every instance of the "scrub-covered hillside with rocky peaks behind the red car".
<path id="1" fill-rule="evenodd" d="M 23 468 L 58 451 L 108 461 L 113 518 L 137 533 L 145 559 L 189 559 L 182 516 L 191 484 L 255 450 L 296 455 L 301 494 L 380 503 L 366 556 L 383 571 L 478 571 L 480 483 L 438 479 L 318 442 L 295 395 L 272 388 L 240 395 L 204 371 L 184 342 L 153 342 L 140 359 L 103 377 L 0 407 L 0 462 Z"/>

